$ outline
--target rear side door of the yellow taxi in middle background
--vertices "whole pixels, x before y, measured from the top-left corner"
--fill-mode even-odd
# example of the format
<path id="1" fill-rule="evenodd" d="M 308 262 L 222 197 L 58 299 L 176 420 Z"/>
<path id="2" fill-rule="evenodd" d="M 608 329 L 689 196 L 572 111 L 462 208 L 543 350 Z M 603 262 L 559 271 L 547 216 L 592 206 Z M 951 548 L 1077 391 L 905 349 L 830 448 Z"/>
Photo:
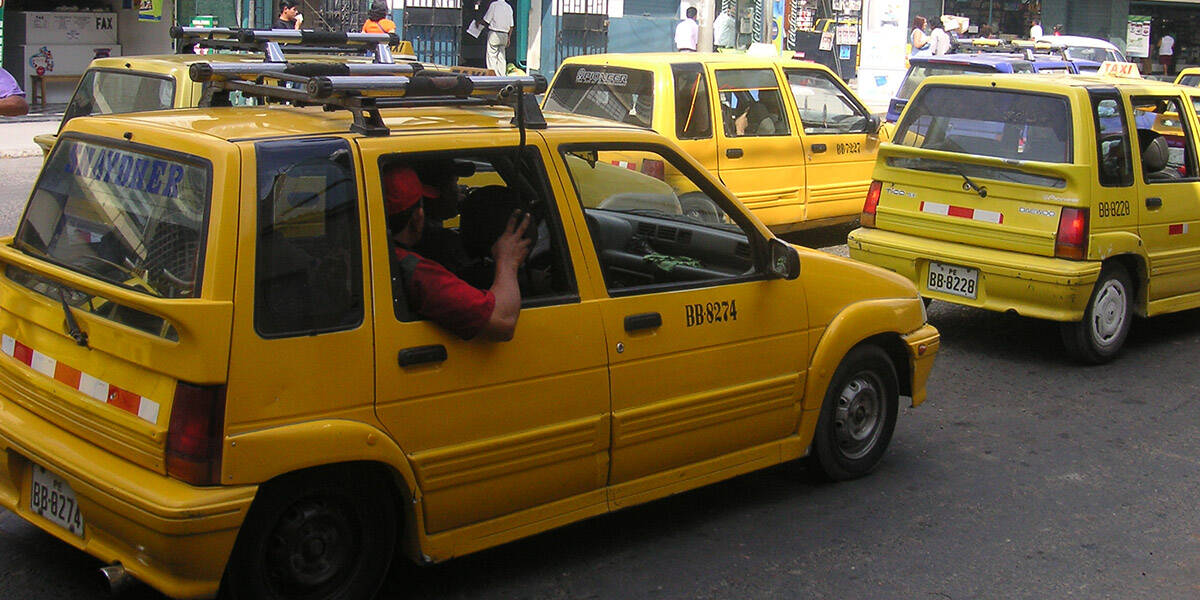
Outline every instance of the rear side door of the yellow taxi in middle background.
<path id="1" fill-rule="evenodd" d="M 768 227 L 786 230 L 808 218 L 804 152 L 784 110 L 772 67 L 713 66 L 718 174 Z"/>

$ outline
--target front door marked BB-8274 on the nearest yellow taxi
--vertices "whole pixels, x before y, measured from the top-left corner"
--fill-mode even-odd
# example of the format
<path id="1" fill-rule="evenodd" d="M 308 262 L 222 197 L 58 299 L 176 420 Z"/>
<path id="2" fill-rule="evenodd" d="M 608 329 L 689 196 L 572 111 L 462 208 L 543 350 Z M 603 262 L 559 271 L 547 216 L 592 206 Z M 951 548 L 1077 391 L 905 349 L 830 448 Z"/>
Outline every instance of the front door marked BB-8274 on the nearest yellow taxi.
<path id="1" fill-rule="evenodd" d="M 809 335 L 803 287 L 766 276 L 767 238 L 672 150 L 622 143 L 558 149 L 604 316 L 612 503 L 778 461 L 769 443 L 793 434 L 799 422 Z M 691 188 L 673 191 L 649 174 L 611 185 L 594 173 L 612 168 L 610 155 L 668 163 Z M 708 194 L 736 221 L 684 216 L 678 192 Z M 606 198 L 587 206 L 580 200 L 596 194 Z"/>

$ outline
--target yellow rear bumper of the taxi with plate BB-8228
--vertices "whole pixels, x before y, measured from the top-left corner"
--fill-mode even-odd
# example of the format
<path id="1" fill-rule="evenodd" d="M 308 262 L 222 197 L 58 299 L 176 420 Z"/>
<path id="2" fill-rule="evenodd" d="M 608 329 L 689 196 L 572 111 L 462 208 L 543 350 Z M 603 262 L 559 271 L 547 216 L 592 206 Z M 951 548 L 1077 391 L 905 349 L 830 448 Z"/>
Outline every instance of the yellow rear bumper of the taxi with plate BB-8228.
<path id="1" fill-rule="evenodd" d="M 851 232 L 846 246 L 851 258 L 907 277 L 923 296 L 1060 322 L 1084 318 L 1100 272 L 1099 262 L 980 248 L 869 228 Z M 930 260 L 978 269 L 976 298 L 930 292 L 926 284 Z"/>

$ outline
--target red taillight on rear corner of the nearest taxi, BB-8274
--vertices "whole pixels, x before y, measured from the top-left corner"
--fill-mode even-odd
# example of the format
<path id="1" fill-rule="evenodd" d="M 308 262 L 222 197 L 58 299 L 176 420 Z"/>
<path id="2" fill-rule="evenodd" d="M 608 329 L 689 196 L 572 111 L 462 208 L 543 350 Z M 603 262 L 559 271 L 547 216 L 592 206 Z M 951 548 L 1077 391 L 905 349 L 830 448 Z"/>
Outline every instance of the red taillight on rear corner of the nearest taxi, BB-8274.
<path id="1" fill-rule="evenodd" d="M 167 474 L 193 485 L 221 482 L 224 386 L 179 382 L 167 428 Z"/>

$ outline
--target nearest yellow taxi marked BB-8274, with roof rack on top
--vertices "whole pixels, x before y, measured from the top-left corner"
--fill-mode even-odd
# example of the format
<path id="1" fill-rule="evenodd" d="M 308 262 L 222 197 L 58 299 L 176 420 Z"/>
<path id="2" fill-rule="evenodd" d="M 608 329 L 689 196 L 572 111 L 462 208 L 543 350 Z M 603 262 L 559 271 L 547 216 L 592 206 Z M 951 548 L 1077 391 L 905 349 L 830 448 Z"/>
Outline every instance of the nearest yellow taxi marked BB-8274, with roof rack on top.
<path id="1" fill-rule="evenodd" d="M 193 77 L 323 106 L 74 119 L 0 239 L 0 505 L 118 572 L 368 599 L 394 554 L 802 457 L 863 475 L 900 398 L 925 398 L 938 334 L 910 282 L 780 241 L 653 131 L 544 120 L 540 77 L 264 72 Z M 614 154 L 670 164 L 728 222 Z M 532 215 L 510 341 L 409 301 L 401 172 L 427 217 L 404 251 L 479 289 Z"/>

